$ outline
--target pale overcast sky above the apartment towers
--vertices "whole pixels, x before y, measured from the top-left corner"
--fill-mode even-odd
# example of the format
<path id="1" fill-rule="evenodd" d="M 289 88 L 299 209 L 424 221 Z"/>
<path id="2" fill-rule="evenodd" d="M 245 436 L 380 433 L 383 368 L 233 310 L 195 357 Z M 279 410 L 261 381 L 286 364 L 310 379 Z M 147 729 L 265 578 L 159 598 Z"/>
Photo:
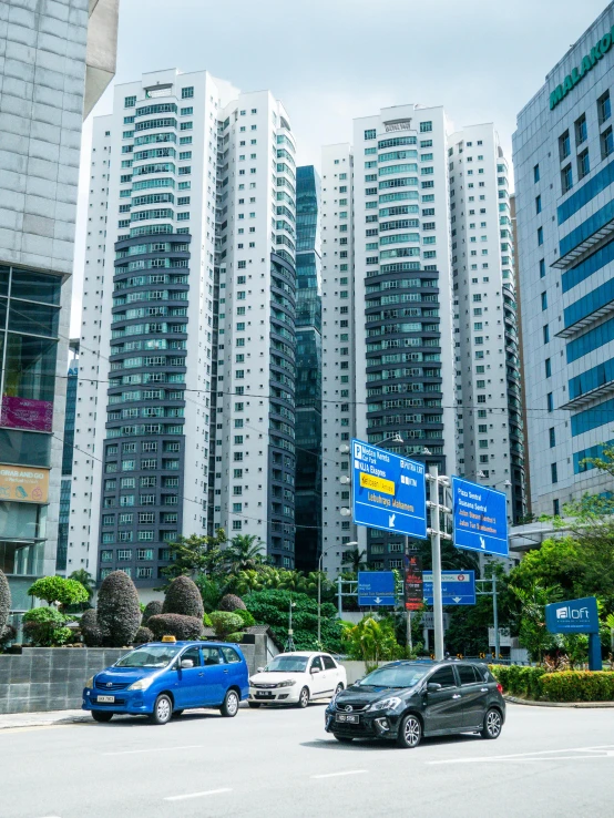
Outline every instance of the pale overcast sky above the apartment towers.
<path id="1" fill-rule="evenodd" d="M 116 82 L 208 70 L 284 102 L 298 163 L 349 142 L 351 120 L 387 105 L 443 105 L 451 122 L 494 122 L 511 159 L 520 109 L 604 0 L 120 0 Z M 72 335 L 79 335 L 91 119 L 83 133 Z"/>

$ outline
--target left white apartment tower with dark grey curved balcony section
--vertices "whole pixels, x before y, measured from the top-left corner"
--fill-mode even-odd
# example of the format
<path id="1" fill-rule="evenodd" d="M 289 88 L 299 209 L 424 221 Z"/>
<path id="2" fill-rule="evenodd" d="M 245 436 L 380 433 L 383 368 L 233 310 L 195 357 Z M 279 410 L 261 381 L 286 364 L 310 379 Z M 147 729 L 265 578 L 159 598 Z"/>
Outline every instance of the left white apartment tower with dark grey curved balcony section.
<path id="1" fill-rule="evenodd" d="M 94 121 L 73 564 L 153 586 L 217 528 L 293 563 L 293 173 L 280 103 L 206 71 L 119 85 Z"/>

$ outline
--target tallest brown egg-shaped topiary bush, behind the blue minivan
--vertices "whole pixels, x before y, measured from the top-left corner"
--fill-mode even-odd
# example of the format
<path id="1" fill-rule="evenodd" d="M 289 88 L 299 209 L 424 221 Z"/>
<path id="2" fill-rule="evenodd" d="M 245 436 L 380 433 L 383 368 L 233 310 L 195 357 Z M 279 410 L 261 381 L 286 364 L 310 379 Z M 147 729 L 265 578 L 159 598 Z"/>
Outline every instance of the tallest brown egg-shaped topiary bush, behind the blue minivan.
<path id="1" fill-rule="evenodd" d="M 98 626 L 105 647 L 130 645 L 141 624 L 139 594 L 124 571 L 113 571 L 98 594 Z"/>

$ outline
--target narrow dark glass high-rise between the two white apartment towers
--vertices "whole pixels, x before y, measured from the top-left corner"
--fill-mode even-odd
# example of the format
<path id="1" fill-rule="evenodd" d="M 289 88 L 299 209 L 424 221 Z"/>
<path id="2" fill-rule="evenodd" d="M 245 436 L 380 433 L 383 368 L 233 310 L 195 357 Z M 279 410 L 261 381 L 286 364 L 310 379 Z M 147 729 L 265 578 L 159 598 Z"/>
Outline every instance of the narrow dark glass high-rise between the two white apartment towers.
<path id="1" fill-rule="evenodd" d="M 296 172 L 296 482 L 295 562 L 313 571 L 321 549 L 320 180 Z"/>

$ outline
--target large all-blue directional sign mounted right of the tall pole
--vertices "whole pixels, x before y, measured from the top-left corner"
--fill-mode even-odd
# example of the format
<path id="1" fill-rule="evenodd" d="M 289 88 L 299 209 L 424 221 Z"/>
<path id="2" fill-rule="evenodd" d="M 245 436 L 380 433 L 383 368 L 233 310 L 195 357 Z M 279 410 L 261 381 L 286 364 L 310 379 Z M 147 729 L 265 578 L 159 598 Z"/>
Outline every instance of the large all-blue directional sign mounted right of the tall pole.
<path id="1" fill-rule="evenodd" d="M 508 556 L 508 498 L 502 491 L 452 477 L 454 545 Z"/>

